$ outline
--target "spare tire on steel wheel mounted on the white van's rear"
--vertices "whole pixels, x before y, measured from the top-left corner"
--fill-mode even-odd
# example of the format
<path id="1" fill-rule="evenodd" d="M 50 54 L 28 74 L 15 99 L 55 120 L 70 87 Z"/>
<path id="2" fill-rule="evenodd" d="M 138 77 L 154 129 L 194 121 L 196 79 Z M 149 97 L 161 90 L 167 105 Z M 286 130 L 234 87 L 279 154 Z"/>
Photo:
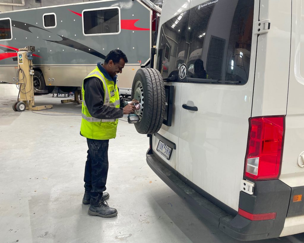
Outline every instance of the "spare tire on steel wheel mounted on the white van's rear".
<path id="1" fill-rule="evenodd" d="M 158 70 L 137 70 L 132 85 L 132 99 L 140 102 L 140 109 L 135 111 L 140 118 L 140 121 L 134 124 L 137 132 L 158 132 L 164 121 L 166 105 L 164 81 Z"/>

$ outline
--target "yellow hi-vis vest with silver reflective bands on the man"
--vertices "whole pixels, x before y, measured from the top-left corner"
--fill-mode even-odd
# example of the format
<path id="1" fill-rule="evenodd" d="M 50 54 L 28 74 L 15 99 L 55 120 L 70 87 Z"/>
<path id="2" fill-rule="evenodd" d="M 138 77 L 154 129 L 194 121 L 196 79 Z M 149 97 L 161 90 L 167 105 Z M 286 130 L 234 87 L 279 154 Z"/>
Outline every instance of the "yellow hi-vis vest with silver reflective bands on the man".
<path id="1" fill-rule="evenodd" d="M 89 77 L 97 77 L 103 85 L 103 90 L 105 91 L 104 96 L 104 106 L 110 106 L 119 108 L 119 93 L 118 88 L 114 84 L 114 81 L 108 80 L 102 74 L 102 72 L 96 67 L 85 79 Z M 89 113 L 87 106 L 85 105 L 85 90 L 82 84 L 82 120 L 80 132 L 86 138 L 97 139 L 97 140 L 108 140 L 116 137 L 116 130 L 118 119 L 98 119 L 92 117 Z"/>

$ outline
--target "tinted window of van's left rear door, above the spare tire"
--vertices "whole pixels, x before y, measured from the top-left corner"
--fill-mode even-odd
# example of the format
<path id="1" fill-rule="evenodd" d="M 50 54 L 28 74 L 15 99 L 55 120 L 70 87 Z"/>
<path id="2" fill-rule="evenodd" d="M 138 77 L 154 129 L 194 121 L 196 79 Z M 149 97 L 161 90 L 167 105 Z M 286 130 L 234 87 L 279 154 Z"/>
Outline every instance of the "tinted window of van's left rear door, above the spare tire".
<path id="1" fill-rule="evenodd" d="M 175 15 L 161 26 L 157 67 L 160 67 L 163 78 L 178 77 L 178 68 L 184 63 L 189 10 Z M 186 50 L 185 50 L 186 49 Z M 185 53 L 186 52 L 186 53 Z M 160 65 L 161 64 L 161 65 Z"/>

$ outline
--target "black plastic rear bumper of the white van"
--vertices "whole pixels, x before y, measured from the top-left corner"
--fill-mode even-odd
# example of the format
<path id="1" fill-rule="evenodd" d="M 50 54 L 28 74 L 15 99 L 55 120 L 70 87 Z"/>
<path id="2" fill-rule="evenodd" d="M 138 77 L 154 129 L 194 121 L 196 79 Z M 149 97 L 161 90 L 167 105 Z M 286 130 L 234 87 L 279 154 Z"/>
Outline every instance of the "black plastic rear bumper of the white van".
<path id="1" fill-rule="evenodd" d="M 239 207 L 251 214 L 276 212 L 271 220 L 251 221 L 222 210 L 181 180 L 177 171 L 163 164 L 152 149 L 147 152 L 147 164 L 175 193 L 184 198 L 202 217 L 217 225 L 231 237 L 241 241 L 279 237 L 284 227 L 291 188 L 280 180 L 255 182 L 254 195 L 240 192 Z M 211 199 L 210 199 L 211 200 Z M 224 207 L 222 207 L 224 208 Z M 228 207 L 227 207 L 228 208 Z M 229 210 L 228 210 L 229 211 Z"/>

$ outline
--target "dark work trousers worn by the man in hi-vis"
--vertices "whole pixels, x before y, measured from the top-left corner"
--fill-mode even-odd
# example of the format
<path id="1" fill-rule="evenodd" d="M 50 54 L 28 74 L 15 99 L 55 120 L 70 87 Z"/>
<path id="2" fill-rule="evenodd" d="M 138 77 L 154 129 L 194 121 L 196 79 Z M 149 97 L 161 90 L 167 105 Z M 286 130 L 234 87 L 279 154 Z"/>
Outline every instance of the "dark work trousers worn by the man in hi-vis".
<path id="1" fill-rule="evenodd" d="M 88 139 L 88 156 L 85 163 L 85 190 L 91 194 L 90 204 L 98 205 L 106 190 L 109 161 L 109 140 Z"/>

